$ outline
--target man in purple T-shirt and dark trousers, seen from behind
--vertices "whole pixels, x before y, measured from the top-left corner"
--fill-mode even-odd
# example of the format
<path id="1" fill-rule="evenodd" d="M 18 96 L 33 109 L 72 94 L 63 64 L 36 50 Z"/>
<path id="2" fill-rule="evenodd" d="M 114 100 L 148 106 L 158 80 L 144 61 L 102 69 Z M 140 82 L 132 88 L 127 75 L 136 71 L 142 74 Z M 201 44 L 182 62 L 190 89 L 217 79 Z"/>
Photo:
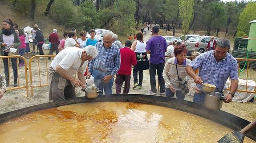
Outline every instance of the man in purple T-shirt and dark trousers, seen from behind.
<path id="1" fill-rule="evenodd" d="M 160 95 L 165 94 L 165 85 L 163 80 L 163 68 L 165 57 L 164 53 L 167 51 L 167 43 L 165 38 L 158 34 L 158 26 L 152 28 L 153 37 L 150 38 L 146 43 L 146 53 L 150 54 L 149 59 L 149 75 L 150 75 L 150 86 L 151 89 L 147 90 L 147 93 L 156 95 L 155 88 L 155 74 L 157 71 L 157 77 L 160 85 Z"/>

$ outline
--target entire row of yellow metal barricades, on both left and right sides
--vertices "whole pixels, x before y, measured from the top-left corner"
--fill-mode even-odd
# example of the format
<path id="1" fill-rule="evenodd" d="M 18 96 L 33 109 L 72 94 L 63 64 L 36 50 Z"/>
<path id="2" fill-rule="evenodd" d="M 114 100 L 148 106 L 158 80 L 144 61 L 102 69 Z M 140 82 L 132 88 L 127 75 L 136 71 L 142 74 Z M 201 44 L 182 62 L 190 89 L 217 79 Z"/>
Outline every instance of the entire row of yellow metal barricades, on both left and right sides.
<path id="1" fill-rule="evenodd" d="M 33 96 L 33 88 L 36 88 L 36 87 L 44 87 L 44 86 L 48 86 L 49 85 L 49 81 L 48 81 L 48 66 L 50 64 L 49 60 L 48 60 L 48 57 L 55 57 L 56 55 L 36 55 L 36 56 L 33 56 L 29 59 L 29 62 L 27 63 L 27 60 L 20 56 L 20 55 L 13 55 L 13 56 L 0 56 L 0 59 L 3 59 L 3 58 L 8 58 L 8 75 L 9 75 L 9 86 L 6 88 L 6 91 L 11 91 L 11 90 L 16 90 L 16 89 L 26 89 L 26 97 L 29 97 L 29 87 L 30 87 L 30 92 L 31 92 L 31 96 Z M 174 57 L 174 56 L 166 56 L 166 57 Z M 17 68 L 17 87 L 11 87 L 11 74 L 10 73 L 13 73 L 11 70 L 10 70 L 10 58 L 16 58 L 16 68 Z M 24 60 L 24 78 L 22 78 L 22 73 L 21 72 L 22 70 L 22 67 L 19 68 L 18 66 L 18 58 L 21 58 Z M 187 57 L 188 59 L 195 59 L 196 57 Z M 32 67 L 32 63 L 34 62 L 34 60 L 37 61 L 37 71 L 38 71 L 38 77 L 37 78 L 37 82 L 39 82 L 39 84 L 36 84 L 35 81 L 33 81 L 33 71 L 35 71 L 35 69 L 33 69 Z M 42 62 L 42 60 L 45 60 L 45 71 L 41 71 L 40 70 L 40 64 L 44 63 Z M 247 71 L 246 71 L 246 77 L 245 77 L 245 80 L 246 80 L 246 85 L 245 85 L 245 90 L 242 90 L 242 89 L 237 89 L 237 91 L 240 91 L 240 92 L 245 92 L 245 93 L 256 93 L 256 88 L 254 89 L 254 91 L 249 91 L 248 90 L 248 75 L 249 75 L 249 67 L 250 67 L 250 62 L 256 62 L 256 59 L 245 59 L 245 58 L 236 58 L 237 62 L 238 62 L 238 72 L 240 71 L 240 65 L 241 65 L 241 62 L 245 62 L 247 61 Z M 0 64 L 0 73 L 1 73 L 1 70 L 4 68 L 1 68 L 2 64 Z M 4 66 L 3 66 L 4 67 Z M 36 66 L 35 66 L 36 67 Z M 29 69 L 29 77 L 30 77 L 30 85 L 28 84 L 28 69 Z M 19 74 L 20 72 L 20 74 Z M 45 76 L 43 76 L 43 72 L 45 72 Z M 42 81 L 41 79 L 45 77 L 46 78 L 46 83 L 45 81 Z M 20 82 L 25 82 L 24 85 L 21 85 L 20 86 Z M 230 80 L 229 80 L 230 82 Z M 228 85 L 228 90 L 229 90 L 229 85 Z M 159 91 L 159 84 L 158 84 L 158 91 Z"/>

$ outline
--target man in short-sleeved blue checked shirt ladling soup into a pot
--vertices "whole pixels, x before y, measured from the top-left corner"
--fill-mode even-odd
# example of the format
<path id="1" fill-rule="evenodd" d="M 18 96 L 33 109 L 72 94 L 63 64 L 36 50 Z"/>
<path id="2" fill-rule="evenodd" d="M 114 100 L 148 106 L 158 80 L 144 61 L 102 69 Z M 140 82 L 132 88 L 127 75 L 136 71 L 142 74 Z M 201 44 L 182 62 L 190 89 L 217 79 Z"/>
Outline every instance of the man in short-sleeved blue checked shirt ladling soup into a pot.
<path id="1" fill-rule="evenodd" d="M 216 42 L 215 50 L 211 50 L 200 54 L 196 57 L 189 66 L 186 67 L 187 74 L 191 76 L 196 86 L 192 87 L 195 90 L 194 102 L 204 102 L 204 93 L 202 91 L 202 82 L 215 85 L 215 92 L 222 93 L 225 83 L 230 77 L 231 86 L 230 92 L 224 96 L 224 102 L 232 101 L 238 87 L 238 64 L 236 59 L 228 53 L 230 42 L 227 38 L 220 38 Z M 198 75 L 195 70 L 199 69 Z"/>

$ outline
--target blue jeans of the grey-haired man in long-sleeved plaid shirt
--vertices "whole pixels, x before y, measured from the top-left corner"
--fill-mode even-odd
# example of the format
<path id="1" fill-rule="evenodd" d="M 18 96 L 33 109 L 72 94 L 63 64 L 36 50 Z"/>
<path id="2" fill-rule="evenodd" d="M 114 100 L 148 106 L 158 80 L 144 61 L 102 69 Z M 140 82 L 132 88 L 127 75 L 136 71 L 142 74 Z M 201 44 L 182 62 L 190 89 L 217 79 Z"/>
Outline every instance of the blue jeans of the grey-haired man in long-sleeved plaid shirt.
<path id="1" fill-rule="evenodd" d="M 103 83 L 103 77 L 106 75 L 110 75 L 110 72 L 101 72 L 98 70 L 93 69 L 93 77 L 95 86 L 99 88 L 99 90 L 104 90 L 104 94 L 112 94 L 112 86 L 113 86 L 113 78 L 110 79 L 108 83 Z"/>

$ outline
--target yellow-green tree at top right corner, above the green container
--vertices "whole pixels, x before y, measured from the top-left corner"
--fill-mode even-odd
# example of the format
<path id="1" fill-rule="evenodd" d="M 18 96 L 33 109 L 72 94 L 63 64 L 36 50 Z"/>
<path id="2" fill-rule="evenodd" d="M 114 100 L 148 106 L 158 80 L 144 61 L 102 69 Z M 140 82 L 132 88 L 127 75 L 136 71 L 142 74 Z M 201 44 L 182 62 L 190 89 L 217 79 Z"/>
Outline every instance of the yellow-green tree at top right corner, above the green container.
<path id="1" fill-rule="evenodd" d="M 256 19 L 256 2 L 249 2 L 239 17 L 237 36 L 249 35 L 250 21 Z"/>

